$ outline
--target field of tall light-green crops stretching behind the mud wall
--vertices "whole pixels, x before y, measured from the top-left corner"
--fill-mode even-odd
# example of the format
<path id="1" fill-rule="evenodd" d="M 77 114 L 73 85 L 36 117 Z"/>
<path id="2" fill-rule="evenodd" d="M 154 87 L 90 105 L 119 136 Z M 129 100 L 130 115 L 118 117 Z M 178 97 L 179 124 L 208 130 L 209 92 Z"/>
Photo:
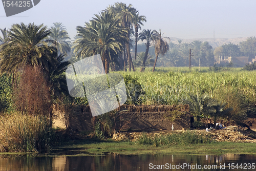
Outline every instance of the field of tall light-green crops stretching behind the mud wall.
<path id="1" fill-rule="evenodd" d="M 230 68 L 224 71 L 209 71 L 208 68 L 146 68 L 144 73 L 123 72 L 136 78 L 142 85 L 145 94 L 141 96 L 143 104 L 178 104 L 189 95 L 207 93 L 219 98 L 221 91 L 239 91 L 249 101 L 255 101 L 256 71 L 241 71 L 241 68 Z"/>

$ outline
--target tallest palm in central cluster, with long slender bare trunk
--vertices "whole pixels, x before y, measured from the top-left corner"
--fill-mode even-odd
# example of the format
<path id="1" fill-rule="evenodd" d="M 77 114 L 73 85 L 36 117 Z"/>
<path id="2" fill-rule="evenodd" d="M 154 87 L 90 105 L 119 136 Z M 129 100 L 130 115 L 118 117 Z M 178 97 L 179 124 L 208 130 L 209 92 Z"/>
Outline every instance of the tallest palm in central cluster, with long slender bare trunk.
<path id="1" fill-rule="evenodd" d="M 133 71 L 135 71 L 130 51 L 130 29 L 133 26 L 134 18 L 138 11 L 132 7 L 132 4 L 126 6 L 126 4 L 124 3 L 115 3 L 115 7 L 117 17 L 119 17 L 121 21 L 121 26 L 125 27 L 128 30 L 126 36 L 129 40 L 125 43 L 125 49 L 127 53 L 129 71 L 131 71 L 131 67 L 133 68 Z"/>

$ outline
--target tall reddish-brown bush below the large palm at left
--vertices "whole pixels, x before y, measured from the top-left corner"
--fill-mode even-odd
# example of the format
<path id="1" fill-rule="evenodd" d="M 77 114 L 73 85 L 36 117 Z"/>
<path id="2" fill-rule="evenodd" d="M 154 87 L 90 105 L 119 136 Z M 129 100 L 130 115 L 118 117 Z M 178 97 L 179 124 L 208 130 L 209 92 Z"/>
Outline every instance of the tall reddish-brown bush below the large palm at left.
<path id="1" fill-rule="evenodd" d="M 51 94 L 39 67 L 27 67 L 14 88 L 16 109 L 23 114 L 51 114 Z"/>

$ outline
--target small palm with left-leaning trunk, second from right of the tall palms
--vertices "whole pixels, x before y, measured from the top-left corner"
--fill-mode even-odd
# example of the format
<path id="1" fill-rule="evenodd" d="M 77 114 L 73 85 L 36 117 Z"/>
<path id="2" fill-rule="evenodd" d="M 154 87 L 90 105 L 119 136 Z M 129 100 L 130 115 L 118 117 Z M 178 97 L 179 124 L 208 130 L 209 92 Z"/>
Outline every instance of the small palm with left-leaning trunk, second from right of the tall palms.
<path id="1" fill-rule="evenodd" d="M 155 32 L 156 30 L 143 30 L 140 34 L 139 34 L 139 40 L 143 41 L 143 40 L 146 40 L 146 52 L 145 52 L 145 56 L 144 56 L 144 59 L 143 59 L 143 63 L 142 63 L 142 67 L 141 67 L 141 70 L 140 72 L 144 72 L 145 71 L 145 62 L 146 62 L 146 59 L 147 59 L 147 55 L 148 55 L 148 50 L 150 50 L 150 45 L 151 45 L 151 42 L 154 41 L 154 35 L 155 35 Z"/>

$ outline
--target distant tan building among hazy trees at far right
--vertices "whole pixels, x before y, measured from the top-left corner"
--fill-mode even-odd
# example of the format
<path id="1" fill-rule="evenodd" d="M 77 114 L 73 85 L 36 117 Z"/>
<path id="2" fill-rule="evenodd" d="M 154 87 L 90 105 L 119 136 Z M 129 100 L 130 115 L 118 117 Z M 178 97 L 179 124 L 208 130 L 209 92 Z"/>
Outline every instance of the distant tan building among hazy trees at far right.
<path id="1" fill-rule="evenodd" d="M 249 57 L 248 56 L 237 56 L 237 57 L 232 57 L 232 56 L 215 56 L 215 63 L 225 65 L 227 63 L 232 62 L 235 66 L 239 67 L 244 67 L 246 63 L 249 63 Z M 256 57 L 255 59 L 256 60 Z"/>

